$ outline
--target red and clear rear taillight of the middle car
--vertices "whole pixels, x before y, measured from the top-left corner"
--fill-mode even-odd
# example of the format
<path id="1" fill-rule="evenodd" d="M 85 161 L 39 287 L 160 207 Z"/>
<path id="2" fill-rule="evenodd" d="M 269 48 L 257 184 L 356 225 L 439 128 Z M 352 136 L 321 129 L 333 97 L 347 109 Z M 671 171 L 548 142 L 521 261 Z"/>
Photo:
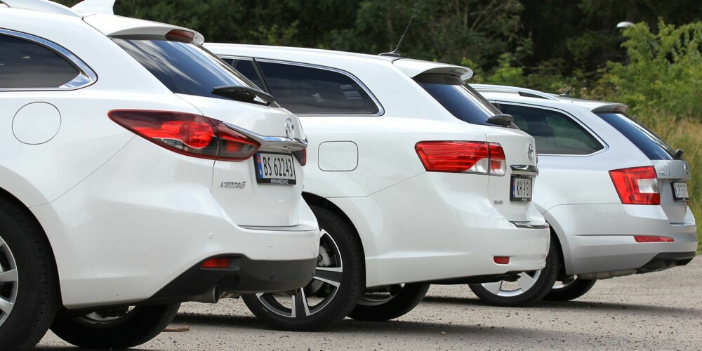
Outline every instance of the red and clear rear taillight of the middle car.
<path id="1" fill-rule="evenodd" d="M 477 173 L 504 176 L 505 151 L 498 143 L 482 141 L 420 141 L 414 147 L 430 172 Z"/>

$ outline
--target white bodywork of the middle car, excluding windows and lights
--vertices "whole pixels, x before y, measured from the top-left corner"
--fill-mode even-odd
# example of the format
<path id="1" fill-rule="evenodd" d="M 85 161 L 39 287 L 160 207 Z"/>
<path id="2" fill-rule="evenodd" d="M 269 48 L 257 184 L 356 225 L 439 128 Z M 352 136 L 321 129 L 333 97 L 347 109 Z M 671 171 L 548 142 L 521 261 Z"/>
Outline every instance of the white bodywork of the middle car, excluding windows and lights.
<path id="1" fill-rule="evenodd" d="M 543 218 L 529 203 L 509 204 L 509 173 L 494 177 L 427 172 L 414 150 L 423 140 L 491 141 L 503 145 L 508 164 L 536 165 L 535 159 L 527 158 L 527 145 L 534 142 L 531 136 L 515 129 L 465 123 L 411 78 L 428 71 L 465 74 L 470 70 L 304 48 L 205 46 L 221 57 L 340 70 L 357 78 L 377 99 L 380 116 L 300 115 L 310 141 L 305 193 L 331 201 L 350 218 L 363 244 L 366 286 L 543 267 L 548 229 L 522 229 L 512 223 L 543 223 Z M 344 160 L 338 164 L 357 162 L 357 166 L 325 171 L 332 157 L 320 156 L 319 150 L 326 152 L 330 143 L 355 144 L 357 156 L 352 147 L 344 148 L 338 154 Z M 494 205 L 498 200 L 506 204 Z M 510 263 L 498 265 L 493 256 L 510 256 Z"/>

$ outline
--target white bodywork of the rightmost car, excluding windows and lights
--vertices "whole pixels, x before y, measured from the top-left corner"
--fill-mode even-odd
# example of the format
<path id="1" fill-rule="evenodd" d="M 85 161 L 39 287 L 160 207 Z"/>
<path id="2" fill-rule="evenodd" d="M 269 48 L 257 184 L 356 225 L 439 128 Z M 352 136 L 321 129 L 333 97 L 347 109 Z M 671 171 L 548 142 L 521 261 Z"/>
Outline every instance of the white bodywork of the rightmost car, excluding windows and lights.
<path id="1" fill-rule="evenodd" d="M 684 201 L 673 201 L 671 179 L 688 179 L 687 161 L 653 160 L 616 128 L 592 113 L 624 107 L 611 102 L 574 100 L 504 86 L 473 85 L 491 102 L 555 110 L 581 123 L 604 149 L 589 155 L 539 154 L 534 204 L 561 243 L 565 272 L 585 279 L 633 274 L 656 255 L 693 253 L 696 223 Z M 538 151 L 538 144 L 536 145 Z M 660 205 L 622 204 L 609 171 L 654 166 Z M 661 172 L 667 172 L 663 175 Z M 672 237 L 675 242 L 637 243 L 634 235 Z M 585 275 L 589 274 L 589 275 Z"/>

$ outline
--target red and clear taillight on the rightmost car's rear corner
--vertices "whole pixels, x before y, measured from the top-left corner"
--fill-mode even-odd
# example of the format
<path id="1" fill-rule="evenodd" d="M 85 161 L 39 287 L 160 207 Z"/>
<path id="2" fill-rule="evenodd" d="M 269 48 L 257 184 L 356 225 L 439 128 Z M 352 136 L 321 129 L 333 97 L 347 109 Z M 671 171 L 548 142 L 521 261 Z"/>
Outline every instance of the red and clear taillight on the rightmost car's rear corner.
<path id="1" fill-rule="evenodd" d="M 658 205 L 658 177 L 653 166 L 623 168 L 609 171 L 622 204 Z"/>

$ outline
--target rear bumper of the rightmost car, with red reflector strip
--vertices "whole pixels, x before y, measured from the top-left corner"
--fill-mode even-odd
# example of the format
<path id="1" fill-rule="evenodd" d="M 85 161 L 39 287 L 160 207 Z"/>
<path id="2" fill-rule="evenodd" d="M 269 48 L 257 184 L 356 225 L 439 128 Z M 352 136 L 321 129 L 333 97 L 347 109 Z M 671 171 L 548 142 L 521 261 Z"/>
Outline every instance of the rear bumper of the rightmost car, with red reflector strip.
<path id="1" fill-rule="evenodd" d="M 559 234 L 567 274 L 614 277 L 663 270 L 675 267 L 655 263 L 665 261 L 665 255 L 689 256 L 697 249 L 697 226 L 691 213 L 684 223 L 671 224 L 659 206 L 557 206 L 544 216 Z M 634 235 L 675 241 L 640 243 Z"/>

